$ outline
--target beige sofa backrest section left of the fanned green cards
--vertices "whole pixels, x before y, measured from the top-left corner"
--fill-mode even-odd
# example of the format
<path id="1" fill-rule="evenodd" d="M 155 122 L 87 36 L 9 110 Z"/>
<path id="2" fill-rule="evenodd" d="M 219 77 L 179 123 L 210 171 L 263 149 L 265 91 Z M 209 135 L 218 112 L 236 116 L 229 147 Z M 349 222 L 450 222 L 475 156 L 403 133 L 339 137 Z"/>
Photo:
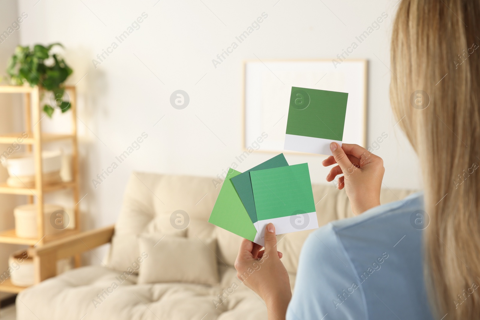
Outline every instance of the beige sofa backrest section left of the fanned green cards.
<path id="1" fill-rule="evenodd" d="M 139 255 L 142 234 L 185 236 L 192 219 L 208 220 L 218 191 L 212 178 L 132 172 L 115 224 L 107 265 L 125 270 Z M 175 222 L 181 214 L 183 225 Z"/>

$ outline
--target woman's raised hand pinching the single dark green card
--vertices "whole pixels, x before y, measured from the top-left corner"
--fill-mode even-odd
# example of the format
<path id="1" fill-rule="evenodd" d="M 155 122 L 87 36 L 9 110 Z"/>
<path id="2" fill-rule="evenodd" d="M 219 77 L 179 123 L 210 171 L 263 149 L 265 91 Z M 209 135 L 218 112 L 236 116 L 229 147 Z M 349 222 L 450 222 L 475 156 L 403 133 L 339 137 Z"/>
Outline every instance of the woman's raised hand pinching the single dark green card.
<path id="1" fill-rule="evenodd" d="M 338 189 L 345 188 L 354 214 L 380 205 L 380 189 L 384 178 L 384 161 L 358 144 L 330 143 L 331 156 L 322 165 L 334 166 L 327 175 L 327 181 L 333 181 L 337 175 Z"/>

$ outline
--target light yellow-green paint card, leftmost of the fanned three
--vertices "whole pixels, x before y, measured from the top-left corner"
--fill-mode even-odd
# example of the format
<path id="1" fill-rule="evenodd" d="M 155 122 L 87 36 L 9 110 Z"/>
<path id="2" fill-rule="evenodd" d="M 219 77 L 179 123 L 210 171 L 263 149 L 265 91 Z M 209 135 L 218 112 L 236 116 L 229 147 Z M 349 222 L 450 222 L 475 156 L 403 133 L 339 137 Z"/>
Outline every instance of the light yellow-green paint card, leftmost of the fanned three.
<path id="1" fill-rule="evenodd" d="M 229 169 L 218 194 L 208 222 L 218 225 L 240 237 L 253 241 L 257 230 L 243 207 L 240 198 L 233 187 L 231 178 L 240 175 L 240 172 Z"/>

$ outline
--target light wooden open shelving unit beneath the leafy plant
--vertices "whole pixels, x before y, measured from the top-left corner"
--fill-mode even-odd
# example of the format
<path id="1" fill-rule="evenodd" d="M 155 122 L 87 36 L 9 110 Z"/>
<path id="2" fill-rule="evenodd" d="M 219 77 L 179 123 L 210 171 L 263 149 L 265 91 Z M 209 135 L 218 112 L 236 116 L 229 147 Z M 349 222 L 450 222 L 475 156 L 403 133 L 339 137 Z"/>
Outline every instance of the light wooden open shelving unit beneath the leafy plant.
<path id="1" fill-rule="evenodd" d="M 22 238 L 17 237 L 15 230 L 6 230 L 0 232 L 0 243 L 19 244 L 41 247 L 48 242 L 59 240 L 63 237 L 69 237 L 79 233 L 80 214 L 79 214 L 79 170 L 78 170 L 78 145 L 77 145 L 77 126 L 76 126 L 76 92 L 74 86 L 66 86 L 65 91 L 70 95 L 70 112 L 72 119 L 72 131 L 67 133 L 46 133 L 41 130 L 42 110 L 40 108 L 40 92 L 37 86 L 0 86 L 0 94 L 22 94 L 24 95 L 24 126 L 28 134 L 21 144 L 26 145 L 27 151 L 34 155 L 35 160 L 35 188 L 15 188 L 10 187 L 6 183 L 0 183 L 0 193 L 15 194 L 27 196 L 28 203 L 35 203 L 37 207 L 37 230 L 38 238 Z M 57 111 L 58 112 L 58 111 Z M 0 144 L 18 143 L 16 139 L 22 137 L 22 132 L 14 132 L 8 134 L 0 134 Z M 60 182 L 56 184 L 44 184 L 42 173 L 42 146 L 44 143 L 67 140 L 72 143 L 72 181 Z M 74 229 L 65 229 L 55 235 L 45 236 L 44 230 L 44 195 L 48 192 L 56 190 L 71 189 L 73 195 L 74 209 Z M 49 261 L 52 263 L 52 261 Z M 55 262 L 53 262 L 55 263 Z M 75 267 L 80 265 L 80 256 L 75 256 Z M 40 282 L 40 270 L 42 265 L 35 264 L 36 282 Z M 18 293 L 24 287 L 13 285 L 10 279 L 0 284 L 1 292 Z"/>

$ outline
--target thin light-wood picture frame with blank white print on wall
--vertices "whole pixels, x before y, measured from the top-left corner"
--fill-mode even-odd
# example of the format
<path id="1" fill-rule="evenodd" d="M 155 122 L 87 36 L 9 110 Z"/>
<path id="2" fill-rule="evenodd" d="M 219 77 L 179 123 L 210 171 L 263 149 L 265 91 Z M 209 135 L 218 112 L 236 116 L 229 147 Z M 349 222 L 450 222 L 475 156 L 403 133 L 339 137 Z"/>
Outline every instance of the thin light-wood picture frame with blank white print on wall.
<path id="1" fill-rule="evenodd" d="M 292 86 L 348 93 L 342 140 L 365 147 L 367 67 L 366 59 L 244 61 L 243 149 L 263 137 L 259 151 L 300 154 L 283 149 Z"/>

